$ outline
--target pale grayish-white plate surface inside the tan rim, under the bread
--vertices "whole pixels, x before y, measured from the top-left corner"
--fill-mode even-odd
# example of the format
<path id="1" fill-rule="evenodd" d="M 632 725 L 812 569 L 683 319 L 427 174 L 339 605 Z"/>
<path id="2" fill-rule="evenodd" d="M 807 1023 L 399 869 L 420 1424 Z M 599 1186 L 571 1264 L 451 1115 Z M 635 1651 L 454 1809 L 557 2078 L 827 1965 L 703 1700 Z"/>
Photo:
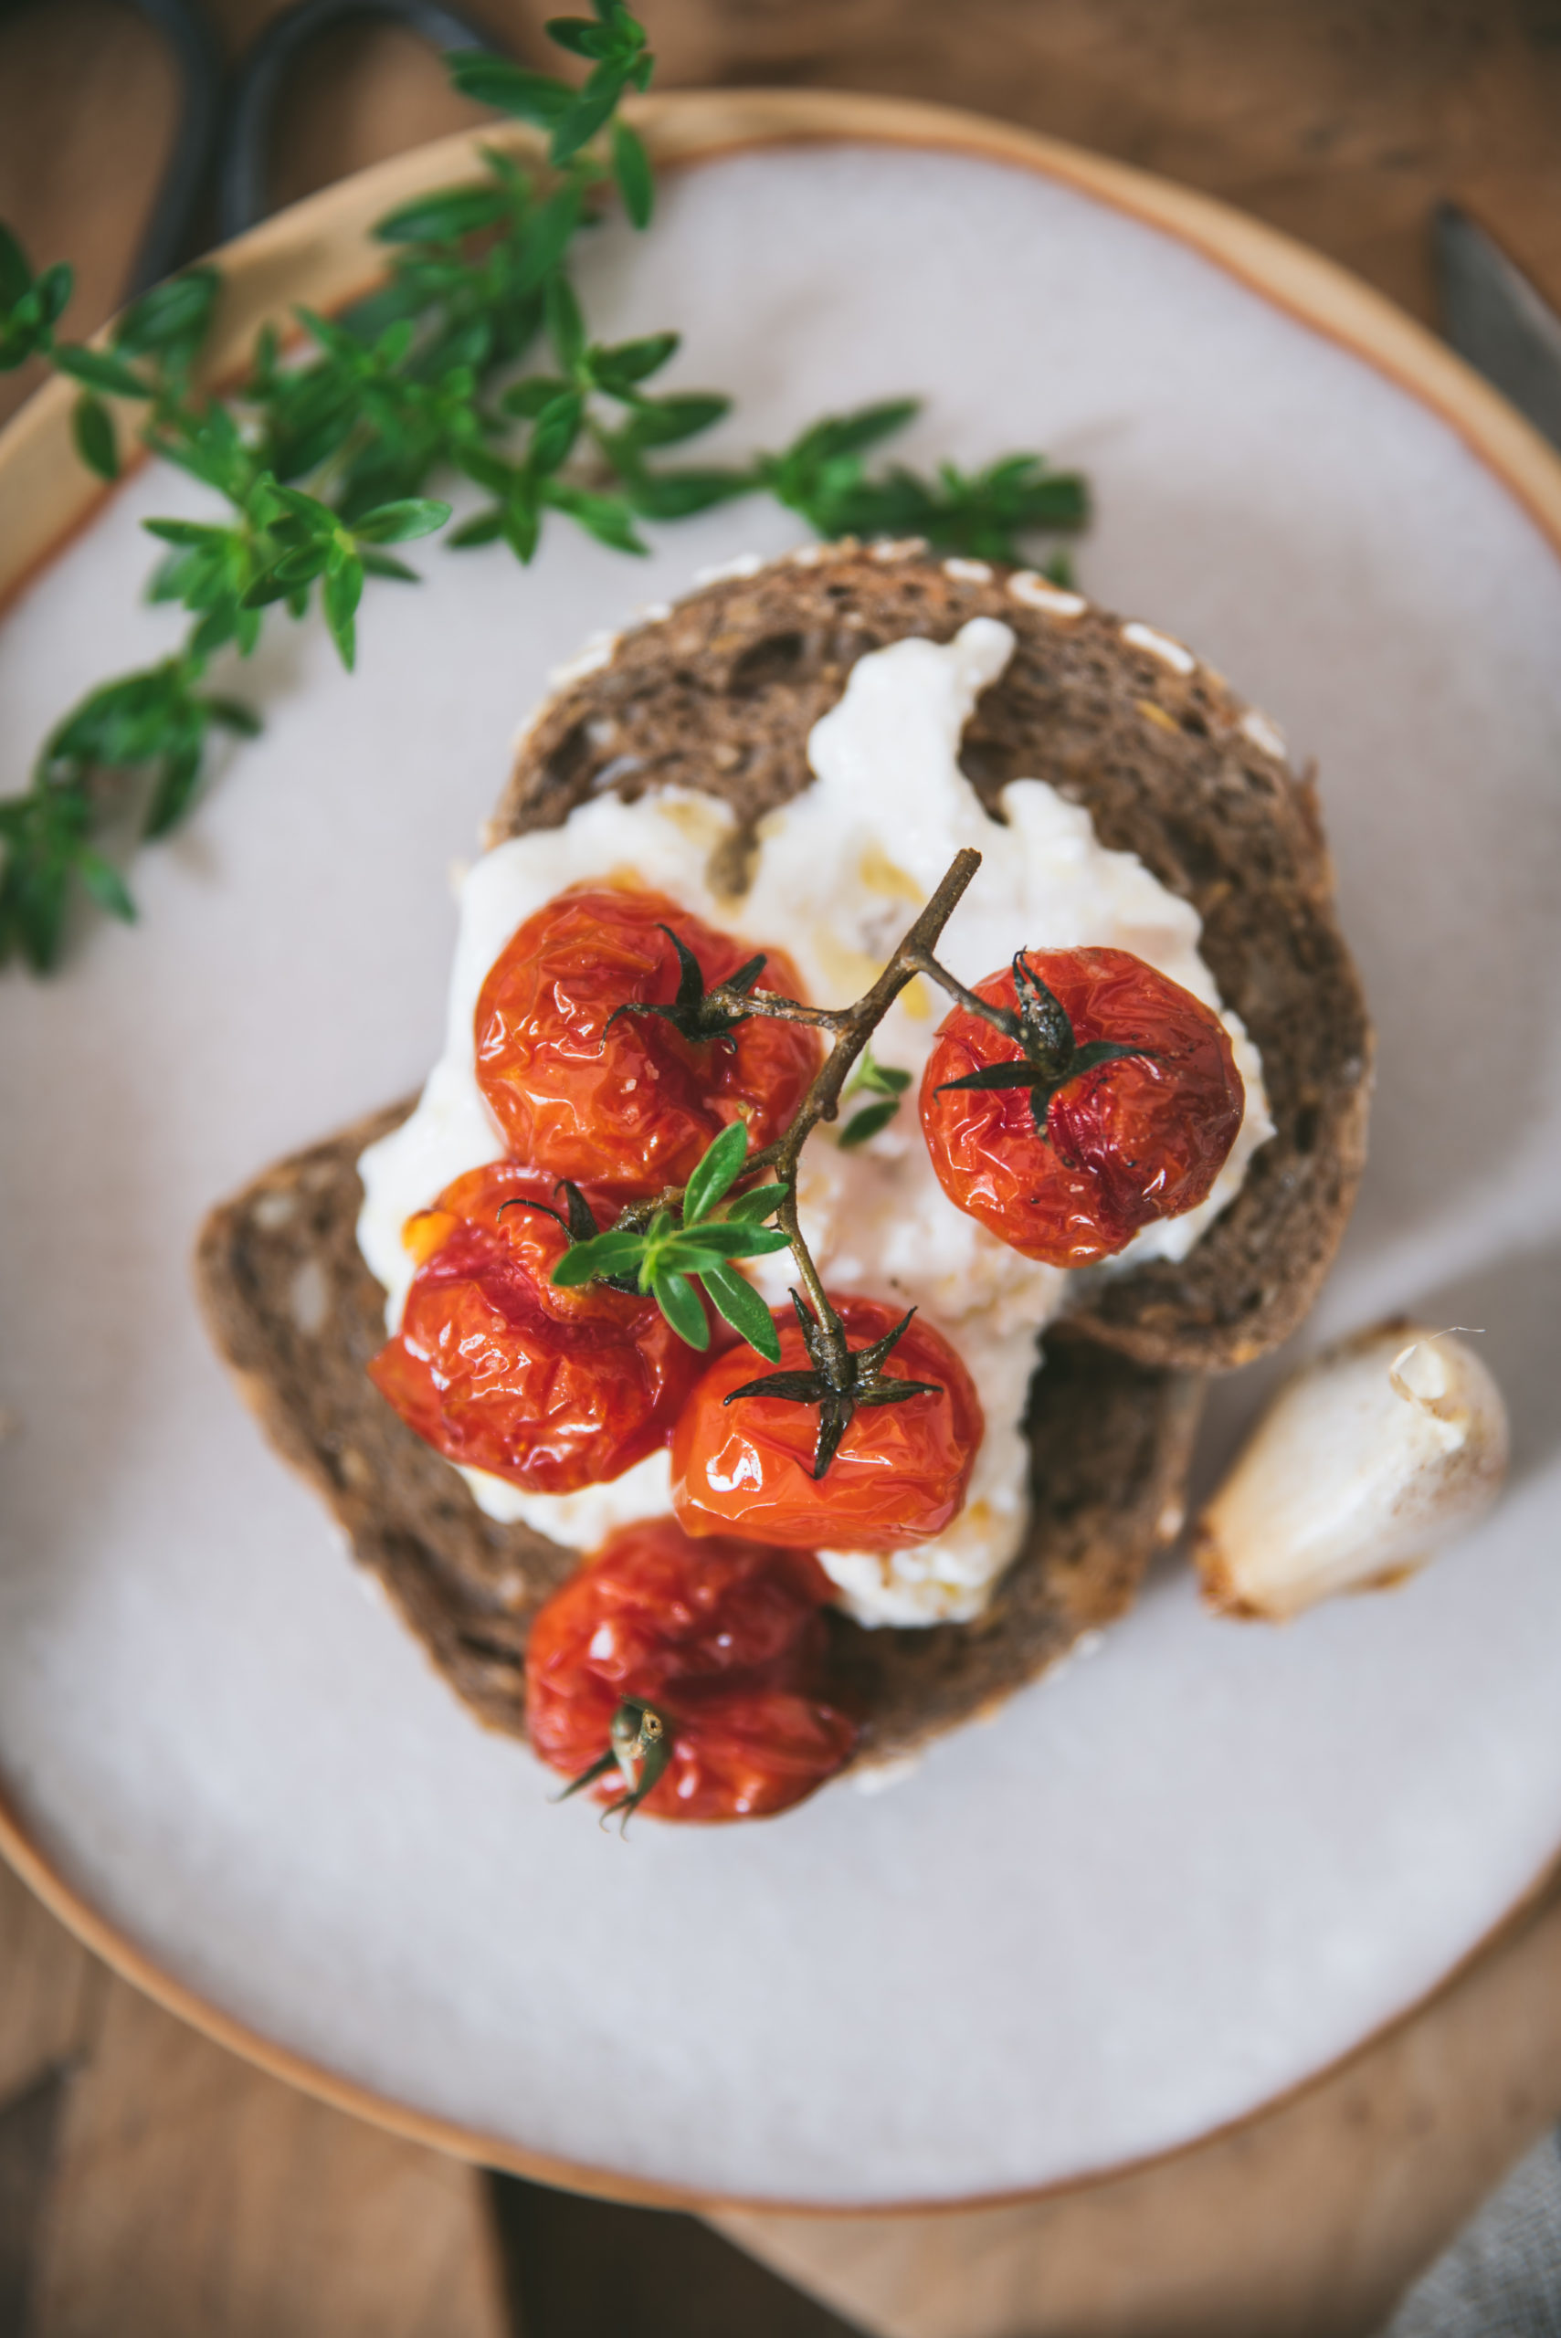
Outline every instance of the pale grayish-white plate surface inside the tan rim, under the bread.
<path id="1" fill-rule="evenodd" d="M 914 388 L 914 458 L 1084 465 L 1089 592 L 1318 758 L 1381 1080 L 1306 1340 L 1484 1326 L 1512 1489 L 1397 1597 L 1285 1632 L 1166 1569 L 890 1793 L 626 1847 L 549 1807 L 262 1445 L 187 1256 L 432 1059 L 446 870 L 547 669 L 795 528 L 734 507 L 638 568 L 561 526 L 530 573 L 430 547 L 437 582 L 372 589 L 353 680 L 315 634 L 264 648 L 266 736 L 138 863 L 145 928 L 0 994 L 16 1840 L 178 2001 L 495 2158 L 820 2205 L 1077 2179 L 1348 2050 L 1561 1849 L 1561 566 L 1411 393 L 1038 166 L 729 154 L 643 243 L 603 231 L 584 292 L 608 337 L 682 325 L 680 379 L 741 393 L 734 449 Z M 199 507 L 138 477 L 14 608 L 5 786 L 168 641 L 138 524 Z M 1220 1391 L 1210 1454 L 1267 1377 Z"/>

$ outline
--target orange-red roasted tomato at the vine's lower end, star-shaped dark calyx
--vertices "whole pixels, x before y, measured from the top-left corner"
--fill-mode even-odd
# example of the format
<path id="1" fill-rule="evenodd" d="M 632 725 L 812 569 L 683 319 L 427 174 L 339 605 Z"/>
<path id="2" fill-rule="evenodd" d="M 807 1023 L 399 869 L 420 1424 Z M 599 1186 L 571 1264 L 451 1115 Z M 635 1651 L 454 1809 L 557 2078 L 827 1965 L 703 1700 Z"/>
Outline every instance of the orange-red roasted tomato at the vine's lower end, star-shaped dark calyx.
<path id="1" fill-rule="evenodd" d="M 902 1309 L 834 1298 L 851 1347 L 893 1330 Z M 795 1314 L 776 1309 L 780 1370 L 809 1370 Z M 706 1370 L 673 1433 L 673 1508 L 689 1534 L 752 1534 L 797 1550 L 902 1550 L 958 1515 L 984 1422 L 970 1372 L 916 1316 L 893 1347 L 890 1379 L 928 1379 L 935 1396 L 862 1405 L 834 1461 L 813 1478 L 818 1405 L 738 1396 L 759 1377 L 752 1349 L 731 1349 Z"/>

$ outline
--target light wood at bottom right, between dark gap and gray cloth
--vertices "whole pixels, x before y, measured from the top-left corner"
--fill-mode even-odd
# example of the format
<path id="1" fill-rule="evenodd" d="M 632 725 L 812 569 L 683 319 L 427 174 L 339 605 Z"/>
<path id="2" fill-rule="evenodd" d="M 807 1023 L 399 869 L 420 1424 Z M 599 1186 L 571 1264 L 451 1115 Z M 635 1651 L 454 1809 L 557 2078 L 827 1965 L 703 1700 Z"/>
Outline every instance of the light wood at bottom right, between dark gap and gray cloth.
<path id="1" fill-rule="evenodd" d="M 1367 2338 L 1561 2111 L 1561 1894 L 1227 2137 L 946 2216 L 715 2216 L 881 2338 Z"/>

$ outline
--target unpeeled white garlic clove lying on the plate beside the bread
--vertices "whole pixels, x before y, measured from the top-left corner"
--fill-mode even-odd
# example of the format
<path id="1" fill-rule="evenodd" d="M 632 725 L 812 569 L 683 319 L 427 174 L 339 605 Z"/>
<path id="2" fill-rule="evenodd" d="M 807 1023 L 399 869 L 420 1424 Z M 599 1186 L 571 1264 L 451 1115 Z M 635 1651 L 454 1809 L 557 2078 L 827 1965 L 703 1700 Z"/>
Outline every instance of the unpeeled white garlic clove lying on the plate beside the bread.
<path id="1" fill-rule="evenodd" d="M 1274 1623 L 1421 1566 L 1507 1471 L 1507 1407 L 1446 1330 L 1379 1323 L 1269 1405 L 1194 1529 L 1203 1597 Z"/>

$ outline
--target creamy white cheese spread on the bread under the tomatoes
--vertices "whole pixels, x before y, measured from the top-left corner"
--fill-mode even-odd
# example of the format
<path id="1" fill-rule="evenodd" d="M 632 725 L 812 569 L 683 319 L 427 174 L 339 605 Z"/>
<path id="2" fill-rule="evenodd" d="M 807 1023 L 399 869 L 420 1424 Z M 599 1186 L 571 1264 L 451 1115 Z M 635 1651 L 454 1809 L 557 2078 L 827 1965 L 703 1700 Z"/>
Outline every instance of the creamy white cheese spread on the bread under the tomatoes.
<path id="1" fill-rule="evenodd" d="M 846 692 L 809 739 L 813 786 L 759 825 L 748 893 L 710 886 L 731 835 L 729 809 L 680 788 L 624 804 L 596 797 L 563 828 L 512 837 L 488 851 L 460 891 L 444 1054 L 411 1118 L 360 1160 L 365 1204 L 358 1241 L 386 1286 L 386 1323 L 400 1326 L 414 1260 L 407 1218 L 451 1178 L 500 1160 L 502 1136 L 477 1087 L 472 1022 L 495 956 L 533 912 L 566 886 L 629 879 L 671 893 L 710 926 L 755 949 L 790 952 L 809 996 L 858 998 L 935 891 L 953 856 L 984 856 L 953 912 L 939 956 L 979 982 L 1017 949 L 1110 945 L 1147 959 L 1215 1008 L 1246 1085 L 1236 1146 L 1201 1209 L 1145 1227 L 1115 1265 L 1182 1258 L 1234 1197 L 1246 1164 L 1274 1134 L 1262 1061 L 1199 956 L 1199 916 L 1133 853 L 1105 851 L 1089 814 L 1040 779 L 1002 790 L 1002 821 L 979 804 L 958 765 L 979 694 L 1014 650 L 995 617 L 974 617 L 949 643 L 897 641 L 862 657 Z M 729 865 L 729 863 L 724 863 Z M 963 1623 L 1024 1541 L 1028 1445 L 1021 1417 L 1038 1333 L 1059 1312 L 1066 1274 L 1010 1251 L 946 1199 L 916 1118 L 916 1082 L 942 1019 L 942 998 L 918 977 L 874 1033 L 874 1057 L 911 1073 L 897 1120 L 841 1153 L 820 1129 L 802 1155 L 802 1230 L 832 1291 L 918 1307 L 958 1349 L 986 1414 L 965 1508 L 935 1543 L 914 1550 L 823 1550 L 841 1606 L 867 1625 Z M 844 1115 L 848 1118 L 848 1115 Z M 752 1279 L 783 1305 L 795 1267 L 785 1253 L 752 1260 Z M 671 1508 L 666 1452 L 580 1494 L 521 1494 L 502 1478 L 463 1471 L 488 1517 L 526 1520 L 540 1534 L 591 1550 L 615 1527 Z"/>

